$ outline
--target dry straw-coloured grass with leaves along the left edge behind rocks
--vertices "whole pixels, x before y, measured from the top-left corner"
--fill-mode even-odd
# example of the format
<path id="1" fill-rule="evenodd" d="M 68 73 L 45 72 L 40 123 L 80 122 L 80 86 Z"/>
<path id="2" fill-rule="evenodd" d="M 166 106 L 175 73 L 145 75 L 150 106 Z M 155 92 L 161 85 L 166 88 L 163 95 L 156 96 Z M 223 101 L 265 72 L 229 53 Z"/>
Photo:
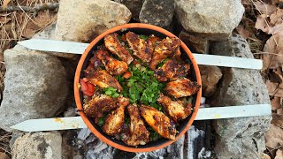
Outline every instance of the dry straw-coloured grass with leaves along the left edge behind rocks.
<path id="1" fill-rule="evenodd" d="M 29 6 L 36 4 L 57 3 L 58 0 L 12 0 L 12 6 Z M 0 0 L 0 6 L 3 0 Z M 25 11 L 0 12 L 0 102 L 4 91 L 4 50 L 11 49 L 17 42 L 31 38 L 57 20 L 57 11 L 40 11 L 37 15 Z M 11 133 L 0 129 L 0 152 L 11 156 L 9 141 Z"/>

